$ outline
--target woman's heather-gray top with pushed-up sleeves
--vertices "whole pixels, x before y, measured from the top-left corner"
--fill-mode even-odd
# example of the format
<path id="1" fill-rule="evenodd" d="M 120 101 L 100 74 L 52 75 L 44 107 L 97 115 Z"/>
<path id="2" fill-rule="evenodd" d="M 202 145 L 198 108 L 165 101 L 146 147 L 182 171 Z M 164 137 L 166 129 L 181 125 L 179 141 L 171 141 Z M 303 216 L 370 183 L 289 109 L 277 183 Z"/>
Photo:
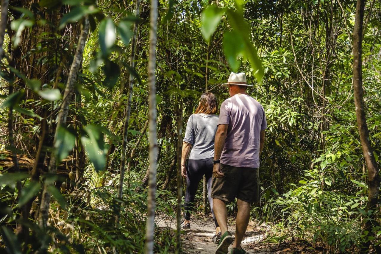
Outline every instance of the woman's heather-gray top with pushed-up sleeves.
<path id="1" fill-rule="evenodd" d="M 214 157 L 214 139 L 218 116 L 215 114 L 193 114 L 189 117 L 184 142 L 192 145 L 189 159 Z"/>

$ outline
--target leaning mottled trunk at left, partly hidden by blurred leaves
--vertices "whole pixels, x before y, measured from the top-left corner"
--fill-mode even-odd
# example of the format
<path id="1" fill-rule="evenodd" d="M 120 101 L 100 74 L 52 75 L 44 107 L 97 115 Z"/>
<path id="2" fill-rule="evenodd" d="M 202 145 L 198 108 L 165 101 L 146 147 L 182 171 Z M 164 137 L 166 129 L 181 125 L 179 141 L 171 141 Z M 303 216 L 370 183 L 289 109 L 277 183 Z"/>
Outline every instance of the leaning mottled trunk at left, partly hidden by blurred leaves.
<path id="1" fill-rule="evenodd" d="M 74 59 L 70 67 L 69 77 L 66 82 L 64 97 L 62 99 L 62 104 L 60 106 L 60 110 L 58 113 L 57 127 L 56 127 L 56 132 L 54 135 L 53 144 L 57 140 L 57 133 L 58 133 L 57 130 L 59 129 L 61 125 L 66 124 L 66 117 L 69 111 L 70 99 L 72 98 L 72 95 L 74 92 L 74 85 L 75 85 L 75 82 L 77 81 L 78 70 L 82 63 L 83 50 L 85 48 L 85 43 L 86 43 L 87 35 L 89 33 L 89 29 L 90 29 L 90 23 L 89 23 L 89 19 L 86 16 L 83 24 L 81 24 L 81 35 L 78 39 L 77 50 L 75 51 Z M 55 151 L 53 151 L 50 154 L 50 162 L 48 166 L 48 171 L 50 174 L 55 174 L 57 171 L 57 158 L 56 158 Z M 40 221 L 40 226 L 43 228 L 46 227 L 46 223 L 48 222 L 50 198 L 51 198 L 50 193 L 48 192 L 48 187 L 50 185 L 51 183 L 50 184 L 45 183 L 43 193 L 42 193 L 42 200 L 40 204 L 39 221 Z"/>

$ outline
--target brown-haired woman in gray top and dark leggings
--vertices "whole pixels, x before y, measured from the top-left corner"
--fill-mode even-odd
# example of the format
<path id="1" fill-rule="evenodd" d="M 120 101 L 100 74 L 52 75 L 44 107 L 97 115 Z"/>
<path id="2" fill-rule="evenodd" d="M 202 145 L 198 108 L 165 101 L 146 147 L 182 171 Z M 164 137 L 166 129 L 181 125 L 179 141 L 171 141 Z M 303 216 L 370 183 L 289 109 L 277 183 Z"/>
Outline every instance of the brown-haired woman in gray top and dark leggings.
<path id="1" fill-rule="evenodd" d="M 210 210 L 216 224 L 216 234 L 213 237 L 213 242 L 218 243 L 221 232 L 213 212 L 213 198 L 211 198 L 214 139 L 218 123 L 216 113 L 216 97 L 213 93 L 203 93 L 195 114 L 192 114 L 188 119 L 181 153 L 181 175 L 187 178 L 184 204 L 185 218 L 181 223 L 181 227 L 183 229 L 191 228 L 191 211 L 194 208 L 194 197 L 200 180 L 205 175 L 208 183 Z M 188 155 L 189 159 L 187 160 Z"/>

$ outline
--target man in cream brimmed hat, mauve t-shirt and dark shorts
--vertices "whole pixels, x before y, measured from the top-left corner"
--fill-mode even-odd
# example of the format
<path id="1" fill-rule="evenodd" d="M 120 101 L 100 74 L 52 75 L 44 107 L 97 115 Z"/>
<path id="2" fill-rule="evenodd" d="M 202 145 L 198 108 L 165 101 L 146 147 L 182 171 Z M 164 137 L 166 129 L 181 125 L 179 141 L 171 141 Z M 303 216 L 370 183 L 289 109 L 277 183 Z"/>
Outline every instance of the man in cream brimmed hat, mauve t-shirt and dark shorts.
<path id="1" fill-rule="evenodd" d="M 250 219 L 250 203 L 260 201 L 259 156 L 267 127 L 262 105 L 246 93 L 245 73 L 230 74 L 228 82 L 231 98 L 221 104 L 215 137 L 212 198 L 215 216 L 222 236 L 216 253 L 226 254 L 233 242 L 227 230 L 225 202 L 237 198 L 238 213 L 232 254 L 247 253 L 241 241 Z"/>

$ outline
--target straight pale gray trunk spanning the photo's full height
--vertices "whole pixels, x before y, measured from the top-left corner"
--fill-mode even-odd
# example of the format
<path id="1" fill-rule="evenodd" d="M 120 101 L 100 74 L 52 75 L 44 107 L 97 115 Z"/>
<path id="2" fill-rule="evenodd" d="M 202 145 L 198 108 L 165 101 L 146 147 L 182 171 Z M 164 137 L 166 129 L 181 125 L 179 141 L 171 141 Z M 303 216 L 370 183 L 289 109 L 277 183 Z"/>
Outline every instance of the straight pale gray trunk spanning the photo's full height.
<path id="1" fill-rule="evenodd" d="M 149 190 L 147 201 L 146 243 L 144 253 L 154 253 L 154 227 L 155 227 L 155 195 L 156 195 L 156 41 L 157 41 L 157 0 L 151 0 L 150 10 L 150 43 L 148 61 L 148 85 L 149 85 Z"/>

